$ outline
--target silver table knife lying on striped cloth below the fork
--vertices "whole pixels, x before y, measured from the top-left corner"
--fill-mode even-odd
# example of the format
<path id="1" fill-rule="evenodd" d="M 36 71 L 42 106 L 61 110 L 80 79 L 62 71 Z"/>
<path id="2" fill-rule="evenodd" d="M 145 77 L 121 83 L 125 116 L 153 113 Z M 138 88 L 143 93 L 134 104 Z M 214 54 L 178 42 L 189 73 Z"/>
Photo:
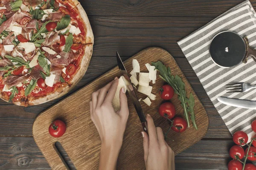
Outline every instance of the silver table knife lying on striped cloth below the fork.
<path id="1" fill-rule="evenodd" d="M 218 97 L 218 101 L 225 104 L 238 108 L 256 109 L 256 101 L 245 100 L 245 99 L 233 99 L 228 97 Z"/>

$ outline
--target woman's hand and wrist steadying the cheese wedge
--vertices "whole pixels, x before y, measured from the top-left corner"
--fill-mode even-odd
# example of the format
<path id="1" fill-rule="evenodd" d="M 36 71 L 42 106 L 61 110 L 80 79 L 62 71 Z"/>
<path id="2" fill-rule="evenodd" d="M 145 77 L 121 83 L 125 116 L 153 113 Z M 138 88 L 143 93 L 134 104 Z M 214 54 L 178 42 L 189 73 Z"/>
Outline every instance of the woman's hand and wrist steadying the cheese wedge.
<path id="1" fill-rule="evenodd" d="M 120 90 L 120 110 L 115 112 L 112 101 L 118 86 L 118 78 L 92 94 L 90 117 L 102 142 L 99 169 L 116 169 L 116 161 L 129 115 L 125 89 Z"/>

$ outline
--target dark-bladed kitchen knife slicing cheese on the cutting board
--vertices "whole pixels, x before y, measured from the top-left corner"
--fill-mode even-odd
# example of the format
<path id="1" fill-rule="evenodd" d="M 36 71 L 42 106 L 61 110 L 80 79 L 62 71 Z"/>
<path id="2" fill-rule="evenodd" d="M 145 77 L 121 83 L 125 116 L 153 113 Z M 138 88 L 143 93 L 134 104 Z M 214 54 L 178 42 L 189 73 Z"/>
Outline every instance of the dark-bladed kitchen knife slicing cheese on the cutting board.
<path id="1" fill-rule="evenodd" d="M 128 76 L 128 73 L 125 69 L 125 65 L 123 64 L 122 62 L 122 59 L 121 57 L 119 56 L 118 52 L 116 51 L 116 59 L 117 59 L 117 64 L 118 64 L 118 67 L 119 67 L 119 70 L 121 71 L 122 73 L 122 78 L 124 79 L 124 82 L 125 82 L 125 85 L 126 85 L 126 88 L 127 88 L 127 91 L 128 91 L 128 94 L 129 96 L 131 97 L 132 99 L 132 103 L 134 105 L 134 108 L 140 118 L 140 122 L 142 124 L 142 127 L 143 127 L 143 130 L 148 133 L 148 125 L 147 125 L 147 120 L 145 118 L 145 115 L 144 115 L 144 112 L 141 108 L 141 105 L 140 105 L 140 102 L 137 98 L 137 95 L 134 91 L 134 88 L 131 84 L 131 80 Z"/>

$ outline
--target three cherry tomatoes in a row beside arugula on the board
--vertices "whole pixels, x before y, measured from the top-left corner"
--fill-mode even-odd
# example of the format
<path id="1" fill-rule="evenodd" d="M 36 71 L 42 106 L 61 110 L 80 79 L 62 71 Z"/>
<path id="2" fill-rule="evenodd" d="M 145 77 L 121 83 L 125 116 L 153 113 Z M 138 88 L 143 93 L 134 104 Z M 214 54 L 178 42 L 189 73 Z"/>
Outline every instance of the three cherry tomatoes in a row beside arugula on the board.
<path id="1" fill-rule="evenodd" d="M 162 88 L 160 88 L 159 90 L 159 94 L 162 99 L 170 100 L 174 95 L 174 90 L 170 85 L 163 85 Z M 164 102 L 162 105 L 160 105 L 158 109 L 158 113 L 160 114 L 160 116 L 170 121 L 170 125 L 171 125 L 170 128 L 175 132 L 182 133 L 186 130 L 187 128 L 186 120 L 181 117 L 175 117 L 175 114 L 176 114 L 175 107 L 171 102 Z"/>

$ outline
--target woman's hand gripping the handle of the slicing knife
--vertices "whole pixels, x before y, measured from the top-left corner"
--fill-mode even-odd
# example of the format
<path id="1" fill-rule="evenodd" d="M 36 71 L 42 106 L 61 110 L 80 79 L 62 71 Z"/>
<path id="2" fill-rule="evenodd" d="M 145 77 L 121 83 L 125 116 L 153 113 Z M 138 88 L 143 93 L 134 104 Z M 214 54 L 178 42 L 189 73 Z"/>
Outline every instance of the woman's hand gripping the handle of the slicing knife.
<path id="1" fill-rule="evenodd" d="M 175 154 L 165 142 L 163 130 L 160 127 L 155 127 L 154 121 L 149 114 L 147 115 L 147 122 L 148 134 L 142 132 L 146 169 L 175 170 Z"/>

